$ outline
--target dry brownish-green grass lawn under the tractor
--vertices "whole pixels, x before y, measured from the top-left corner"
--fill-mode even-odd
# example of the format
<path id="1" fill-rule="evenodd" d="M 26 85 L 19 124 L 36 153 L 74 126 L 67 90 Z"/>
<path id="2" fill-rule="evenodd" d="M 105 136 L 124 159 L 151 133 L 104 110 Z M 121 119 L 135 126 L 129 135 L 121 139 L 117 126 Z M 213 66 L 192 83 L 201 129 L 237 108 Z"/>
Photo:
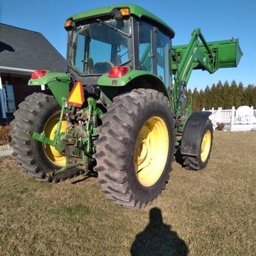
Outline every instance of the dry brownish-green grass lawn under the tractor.
<path id="1" fill-rule="evenodd" d="M 105 199 L 95 177 L 59 184 L 0 159 L 0 255 L 255 255 L 256 133 L 215 132 L 208 167 L 173 164 L 145 209 Z"/>

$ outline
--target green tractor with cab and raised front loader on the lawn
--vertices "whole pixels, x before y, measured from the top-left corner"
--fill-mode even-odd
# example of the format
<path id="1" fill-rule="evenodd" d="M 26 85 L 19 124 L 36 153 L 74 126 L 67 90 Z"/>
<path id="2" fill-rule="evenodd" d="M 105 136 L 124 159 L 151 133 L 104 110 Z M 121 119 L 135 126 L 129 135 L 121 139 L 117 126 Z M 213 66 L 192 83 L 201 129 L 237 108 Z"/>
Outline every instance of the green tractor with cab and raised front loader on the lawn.
<path id="1" fill-rule="evenodd" d="M 191 114 L 186 86 L 193 69 L 237 67 L 238 39 L 189 44 L 136 5 L 85 11 L 65 22 L 67 73 L 40 70 L 11 123 L 14 155 L 28 175 L 57 183 L 97 172 L 115 204 L 141 208 L 166 186 L 175 150 L 185 168 L 207 166 L 210 112 Z"/>

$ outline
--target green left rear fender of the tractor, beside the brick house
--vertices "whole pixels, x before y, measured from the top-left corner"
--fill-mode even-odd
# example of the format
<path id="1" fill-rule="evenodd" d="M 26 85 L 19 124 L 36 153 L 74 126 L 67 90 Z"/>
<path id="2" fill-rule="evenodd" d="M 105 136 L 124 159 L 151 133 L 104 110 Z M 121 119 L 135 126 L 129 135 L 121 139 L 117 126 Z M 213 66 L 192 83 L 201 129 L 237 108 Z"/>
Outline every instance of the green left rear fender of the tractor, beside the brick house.
<path id="1" fill-rule="evenodd" d="M 62 98 L 68 97 L 69 82 L 71 77 L 65 73 L 52 73 L 47 71 L 47 75 L 39 79 L 30 79 L 28 85 L 47 85 L 57 102 L 62 106 Z"/>

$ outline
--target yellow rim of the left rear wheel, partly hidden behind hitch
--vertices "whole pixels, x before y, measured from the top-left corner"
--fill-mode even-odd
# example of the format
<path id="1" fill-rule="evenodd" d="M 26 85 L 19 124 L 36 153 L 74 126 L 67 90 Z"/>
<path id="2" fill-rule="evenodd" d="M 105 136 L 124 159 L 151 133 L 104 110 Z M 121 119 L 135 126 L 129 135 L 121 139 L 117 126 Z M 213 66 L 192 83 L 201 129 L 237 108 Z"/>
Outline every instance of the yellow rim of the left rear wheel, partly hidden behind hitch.
<path id="1" fill-rule="evenodd" d="M 59 122 L 60 112 L 53 114 L 44 125 L 44 133 L 46 137 L 49 139 L 54 139 L 55 130 L 57 130 L 57 123 Z M 68 127 L 67 121 L 61 122 L 61 133 L 65 133 Z M 46 154 L 47 158 L 56 166 L 65 166 L 66 158 L 61 152 L 57 151 L 55 147 L 52 147 L 48 144 L 43 143 L 44 154 Z"/>

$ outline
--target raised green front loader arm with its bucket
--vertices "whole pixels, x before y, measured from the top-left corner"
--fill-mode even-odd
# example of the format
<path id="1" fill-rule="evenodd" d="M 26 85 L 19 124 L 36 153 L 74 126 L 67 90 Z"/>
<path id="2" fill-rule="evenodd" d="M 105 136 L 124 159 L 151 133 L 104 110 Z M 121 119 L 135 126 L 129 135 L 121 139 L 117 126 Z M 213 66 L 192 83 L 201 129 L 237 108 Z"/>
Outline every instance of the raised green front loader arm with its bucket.
<path id="1" fill-rule="evenodd" d="M 180 131 L 183 131 L 192 109 L 192 99 L 187 106 L 184 106 L 186 99 L 183 93 L 192 70 L 202 69 L 212 74 L 219 68 L 237 67 L 242 54 L 238 39 L 207 43 L 200 28 L 192 32 L 191 40 L 187 45 L 172 48 L 172 56 L 170 56 L 172 73 L 174 73 L 172 104 L 178 119 L 183 113 L 182 119 L 178 121 Z"/>

